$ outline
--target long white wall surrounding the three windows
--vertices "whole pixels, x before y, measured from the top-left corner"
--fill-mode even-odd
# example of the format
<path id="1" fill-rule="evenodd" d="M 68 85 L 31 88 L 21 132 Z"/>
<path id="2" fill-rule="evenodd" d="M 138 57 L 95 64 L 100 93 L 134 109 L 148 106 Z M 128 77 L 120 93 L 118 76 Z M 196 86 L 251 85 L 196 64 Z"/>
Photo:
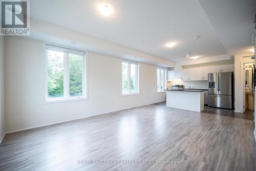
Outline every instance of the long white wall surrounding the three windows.
<path id="1" fill-rule="evenodd" d="M 43 104 L 42 42 L 27 37 L 5 39 L 7 132 L 54 121 L 165 101 L 157 93 L 157 67 L 140 63 L 140 94 L 121 96 L 121 59 L 88 54 L 88 100 Z"/>

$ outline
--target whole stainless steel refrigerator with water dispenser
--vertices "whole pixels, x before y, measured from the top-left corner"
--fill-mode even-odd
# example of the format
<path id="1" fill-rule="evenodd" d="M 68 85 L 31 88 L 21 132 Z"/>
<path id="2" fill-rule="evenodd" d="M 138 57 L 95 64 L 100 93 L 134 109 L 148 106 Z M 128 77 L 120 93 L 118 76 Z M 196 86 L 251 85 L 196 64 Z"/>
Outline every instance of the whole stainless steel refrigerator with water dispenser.
<path id="1" fill-rule="evenodd" d="M 208 106 L 234 108 L 233 72 L 208 73 Z"/>

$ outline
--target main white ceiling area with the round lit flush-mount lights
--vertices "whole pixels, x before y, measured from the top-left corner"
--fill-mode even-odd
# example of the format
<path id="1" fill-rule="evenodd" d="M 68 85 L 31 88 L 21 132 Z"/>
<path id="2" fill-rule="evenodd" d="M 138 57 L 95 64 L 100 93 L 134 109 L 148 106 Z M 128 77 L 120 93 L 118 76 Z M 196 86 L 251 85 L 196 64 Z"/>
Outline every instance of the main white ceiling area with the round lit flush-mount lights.
<path id="1" fill-rule="evenodd" d="M 227 53 L 197 0 L 108 0 L 115 14 L 103 17 L 97 5 L 105 2 L 33 0 L 31 17 L 175 62 L 187 60 L 186 53 L 202 57 Z M 200 39 L 193 40 L 195 35 Z M 166 48 L 171 41 L 177 46 Z"/>

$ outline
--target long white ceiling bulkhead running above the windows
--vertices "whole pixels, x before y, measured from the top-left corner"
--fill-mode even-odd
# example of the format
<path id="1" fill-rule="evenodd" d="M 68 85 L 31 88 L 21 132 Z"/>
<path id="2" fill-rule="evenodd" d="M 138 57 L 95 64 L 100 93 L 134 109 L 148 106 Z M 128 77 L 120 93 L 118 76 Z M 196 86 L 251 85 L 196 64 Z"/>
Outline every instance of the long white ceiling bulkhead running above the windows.
<path id="1" fill-rule="evenodd" d="M 147 62 L 163 67 L 174 66 L 175 62 L 159 58 L 158 56 L 131 49 L 113 42 L 104 41 L 94 36 L 31 18 L 30 37 L 38 40 L 50 41 L 67 46 L 76 46 L 103 54 L 119 56 L 130 60 Z M 47 29 L 46 29 L 47 28 Z"/>

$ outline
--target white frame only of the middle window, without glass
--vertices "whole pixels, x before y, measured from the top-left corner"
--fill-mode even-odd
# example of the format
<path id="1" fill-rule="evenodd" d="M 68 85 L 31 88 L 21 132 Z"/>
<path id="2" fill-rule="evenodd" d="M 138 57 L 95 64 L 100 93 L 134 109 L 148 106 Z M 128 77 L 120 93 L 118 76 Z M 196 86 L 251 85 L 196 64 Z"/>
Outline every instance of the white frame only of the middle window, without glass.
<path id="1" fill-rule="evenodd" d="M 127 68 L 127 90 L 128 93 L 123 93 L 123 77 L 122 77 L 122 63 L 127 63 L 128 68 Z M 131 64 L 137 65 L 137 77 L 136 77 L 136 92 L 131 92 Z M 140 87 L 139 87 L 139 68 L 140 68 L 140 63 L 136 61 L 131 61 L 131 60 L 126 60 L 126 59 L 121 59 L 121 96 L 134 96 L 138 95 L 140 93 Z M 129 83 L 130 82 L 130 83 Z M 128 86 L 130 85 L 130 86 Z M 130 87 L 130 89 L 129 89 Z"/>

